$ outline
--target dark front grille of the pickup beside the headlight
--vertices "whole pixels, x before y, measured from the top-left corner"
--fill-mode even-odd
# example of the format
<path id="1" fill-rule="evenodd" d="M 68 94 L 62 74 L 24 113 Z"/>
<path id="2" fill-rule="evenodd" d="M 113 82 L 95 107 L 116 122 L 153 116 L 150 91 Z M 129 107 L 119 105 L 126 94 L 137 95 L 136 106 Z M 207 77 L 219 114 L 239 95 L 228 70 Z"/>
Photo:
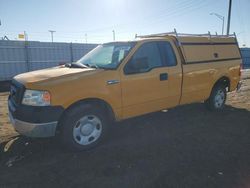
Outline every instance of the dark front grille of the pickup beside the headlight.
<path id="1" fill-rule="evenodd" d="M 10 100 L 16 105 L 21 104 L 24 90 L 25 88 L 21 83 L 12 80 L 10 86 Z"/>

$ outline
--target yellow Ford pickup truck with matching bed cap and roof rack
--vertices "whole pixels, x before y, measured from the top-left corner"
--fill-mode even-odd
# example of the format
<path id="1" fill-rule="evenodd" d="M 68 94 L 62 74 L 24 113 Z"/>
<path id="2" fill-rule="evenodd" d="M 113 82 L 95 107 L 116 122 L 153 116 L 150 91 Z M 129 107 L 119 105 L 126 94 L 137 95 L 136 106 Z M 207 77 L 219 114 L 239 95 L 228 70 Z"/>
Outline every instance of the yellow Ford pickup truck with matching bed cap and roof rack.
<path id="1" fill-rule="evenodd" d="M 234 36 L 163 33 L 105 43 L 77 62 L 15 76 L 9 117 L 22 135 L 58 135 L 69 149 L 85 150 L 112 121 L 199 101 L 221 110 L 241 63 Z"/>

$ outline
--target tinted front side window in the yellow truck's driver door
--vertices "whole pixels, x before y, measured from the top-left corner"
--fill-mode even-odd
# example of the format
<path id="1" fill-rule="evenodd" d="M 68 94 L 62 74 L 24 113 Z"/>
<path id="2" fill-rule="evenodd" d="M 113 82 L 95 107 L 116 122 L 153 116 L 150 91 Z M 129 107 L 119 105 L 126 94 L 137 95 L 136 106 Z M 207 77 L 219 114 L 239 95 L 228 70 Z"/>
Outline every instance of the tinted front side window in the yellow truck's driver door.
<path id="1" fill-rule="evenodd" d="M 148 42 L 135 52 L 124 67 L 125 74 L 149 72 L 153 68 L 162 67 L 161 56 L 156 42 Z"/>

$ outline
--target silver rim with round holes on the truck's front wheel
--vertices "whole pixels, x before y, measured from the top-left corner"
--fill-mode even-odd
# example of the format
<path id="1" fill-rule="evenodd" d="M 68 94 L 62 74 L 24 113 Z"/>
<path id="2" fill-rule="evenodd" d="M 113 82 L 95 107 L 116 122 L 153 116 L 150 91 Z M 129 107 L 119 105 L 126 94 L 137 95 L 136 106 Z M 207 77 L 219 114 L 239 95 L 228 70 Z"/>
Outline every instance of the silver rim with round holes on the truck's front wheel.
<path id="1" fill-rule="evenodd" d="M 73 128 L 73 137 L 80 145 L 89 145 L 101 136 L 102 123 L 95 115 L 85 115 L 79 119 Z"/>

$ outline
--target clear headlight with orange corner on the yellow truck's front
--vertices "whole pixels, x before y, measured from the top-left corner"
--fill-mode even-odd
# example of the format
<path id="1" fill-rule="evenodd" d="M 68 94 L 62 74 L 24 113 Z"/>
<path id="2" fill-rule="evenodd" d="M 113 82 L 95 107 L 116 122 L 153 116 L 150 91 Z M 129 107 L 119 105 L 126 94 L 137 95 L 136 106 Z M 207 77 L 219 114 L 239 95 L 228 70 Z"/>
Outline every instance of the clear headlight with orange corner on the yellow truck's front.
<path id="1" fill-rule="evenodd" d="M 48 91 L 25 90 L 22 104 L 31 106 L 49 106 L 50 93 Z"/>

